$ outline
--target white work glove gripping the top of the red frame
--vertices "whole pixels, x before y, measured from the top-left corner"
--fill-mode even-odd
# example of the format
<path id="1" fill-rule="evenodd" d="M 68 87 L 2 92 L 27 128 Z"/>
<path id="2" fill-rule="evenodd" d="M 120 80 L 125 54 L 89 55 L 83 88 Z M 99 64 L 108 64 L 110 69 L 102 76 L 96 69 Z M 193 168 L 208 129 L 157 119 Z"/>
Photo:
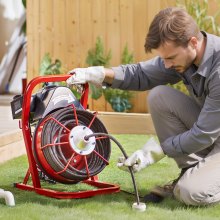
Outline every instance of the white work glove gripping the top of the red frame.
<path id="1" fill-rule="evenodd" d="M 103 66 L 76 68 L 69 71 L 69 74 L 73 75 L 66 80 L 68 85 L 92 83 L 97 87 L 101 87 L 105 78 L 105 69 Z"/>

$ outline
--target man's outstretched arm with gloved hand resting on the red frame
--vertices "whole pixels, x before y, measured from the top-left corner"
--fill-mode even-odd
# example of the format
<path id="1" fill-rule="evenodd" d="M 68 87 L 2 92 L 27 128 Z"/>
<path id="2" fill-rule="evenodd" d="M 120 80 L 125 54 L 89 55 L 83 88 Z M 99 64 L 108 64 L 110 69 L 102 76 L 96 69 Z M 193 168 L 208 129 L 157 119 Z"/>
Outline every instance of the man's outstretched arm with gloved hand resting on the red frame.
<path id="1" fill-rule="evenodd" d="M 159 57 L 111 69 L 103 66 L 76 68 L 69 73 L 73 76 L 67 80 L 68 84 L 89 82 L 101 86 L 102 83 L 106 83 L 112 88 L 136 91 L 145 91 L 157 85 L 173 84 L 181 80 L 174 70 L 164 67 L 163 61 Z"/>

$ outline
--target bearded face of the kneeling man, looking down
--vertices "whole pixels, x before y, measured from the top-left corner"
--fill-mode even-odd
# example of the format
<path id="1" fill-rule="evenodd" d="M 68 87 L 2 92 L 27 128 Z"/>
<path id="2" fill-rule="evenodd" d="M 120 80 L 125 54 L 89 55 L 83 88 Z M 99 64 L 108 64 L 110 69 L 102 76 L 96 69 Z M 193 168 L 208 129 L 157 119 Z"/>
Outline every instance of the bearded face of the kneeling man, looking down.
<path id="1" fill-rule="evenodd" d="M 187 47 L 182 47 L 170 41 L 161 45 L 157 52 L 163 59 L 165 68 L 184 73 L 196 59 L 196 44 L 194 41 L 189 41 Z"/>

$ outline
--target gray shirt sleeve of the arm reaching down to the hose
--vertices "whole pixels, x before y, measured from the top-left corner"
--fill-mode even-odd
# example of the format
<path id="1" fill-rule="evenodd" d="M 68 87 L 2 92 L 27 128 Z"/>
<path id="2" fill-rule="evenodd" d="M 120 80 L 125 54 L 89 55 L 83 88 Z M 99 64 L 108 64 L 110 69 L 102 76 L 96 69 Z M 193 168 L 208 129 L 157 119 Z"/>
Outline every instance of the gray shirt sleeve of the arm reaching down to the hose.
<path id="1" fill-rule="evenodd" d="M 208 82 L 208 95 L 193 127 L 161 143 L 165 154 L 177 157 L 191 154 L 211 146 L 220 136 L 220 71 Z"/>

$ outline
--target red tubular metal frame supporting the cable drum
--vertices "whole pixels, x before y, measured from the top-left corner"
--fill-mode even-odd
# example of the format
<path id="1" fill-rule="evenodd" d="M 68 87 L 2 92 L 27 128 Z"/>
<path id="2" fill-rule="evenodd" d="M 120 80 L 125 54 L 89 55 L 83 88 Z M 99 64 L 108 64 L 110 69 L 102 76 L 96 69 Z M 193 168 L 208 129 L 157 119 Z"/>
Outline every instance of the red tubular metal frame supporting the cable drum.
<path id="1" fill-rule="evenodd" d="M 23 137 L 24 137 L 29 168 L 24 177 L 23 183 L 15 183 L 15 187 L 22 189 L 22 190 L 35 191 L 36 193 L 40 195 L 53 197 L 53 198 L 59 198 L 59 199 L 87 198 L 87 197 L 91 197 L 91 196 L 95 196 L 99 194 L 119 192 L 120 187 L 118 185 L 105 183 L 105 182 L 99 182 L 98 176 L 93 176 L 83 181 L 83 183 L 96 187 L 96 189 L 93 189 L 93 190 L 86 190 L 86 191 L 80 191 L 80 192 L 62 192 L 62 191 L 42 188 L 41 186 L 39 175 L 38 175 L 38 170 L 37 170 L 37 164 L 35 162 L 34 155 L 32 152 L 32 137 L 31 137 L 31 128 L 29 124 L 31 95 L 32 95 L 34 88 L 40 83 L 66 81 L 69 77 L 70 75 L 39 76 L 39 77 L 32 79 L 24 91 L 23 105 L 22 105 L 22 120 L 21 120 L 20 126 L 22 129 Z M 88 93 L 89 93 L 89 86 L 88 84 L 85 84 L 84 91 L 83 91 L 83 94 L 80 100 L 82 106 L 85 109 L 87 107 L 87 102 L 88 102 Z M 96 114 L 94 115 L 94 117 L 96 117 Z M 92 122 L 93 121 L 91 121 L 90 124 L 92 124 Z M 27 184 L 30 176 L 32 180 L 32 185 Z"/>

